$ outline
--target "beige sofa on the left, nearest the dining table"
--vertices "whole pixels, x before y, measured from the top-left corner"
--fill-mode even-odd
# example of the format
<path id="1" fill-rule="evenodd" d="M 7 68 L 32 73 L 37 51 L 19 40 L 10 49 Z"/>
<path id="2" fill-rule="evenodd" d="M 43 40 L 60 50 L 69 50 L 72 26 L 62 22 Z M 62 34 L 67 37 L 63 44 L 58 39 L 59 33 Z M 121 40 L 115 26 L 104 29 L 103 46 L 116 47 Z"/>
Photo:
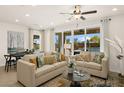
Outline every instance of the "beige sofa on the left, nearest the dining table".
<path id="1" fill-rule="evenodd" d="M 52 65 L 43 65 L 36 69 L 35 64 L 30 63 L 30 58 L 35 58 L 35 55 L 25 55 L 23 59 L 17 62 L 17 81 L 24 86 L 38 86 L 44 82 L 63 73 L 66 68 L 65 61 L 56 62 Z"/>

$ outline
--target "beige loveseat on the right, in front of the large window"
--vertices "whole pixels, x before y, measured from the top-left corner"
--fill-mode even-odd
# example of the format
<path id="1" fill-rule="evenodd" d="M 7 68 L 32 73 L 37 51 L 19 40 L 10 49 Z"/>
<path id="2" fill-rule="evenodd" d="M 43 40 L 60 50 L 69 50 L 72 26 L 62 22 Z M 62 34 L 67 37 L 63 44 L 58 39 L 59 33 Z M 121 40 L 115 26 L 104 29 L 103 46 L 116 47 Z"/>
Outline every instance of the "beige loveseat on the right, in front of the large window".
<path id="1" fill-rule="evenodd" d="M 90 52 L 90 58 L 88 59 L 88 62 L 76 60 L 76 67 L 78 70 L 83 70 L 83 71 L 90 73 L 91 75 L 106 79 L 108 76 L 108 71 L 109 71 L 108 58 L 104 56 L 104 58 L 102 58 L 101 64 L 93 62 L 93 58 L 96 53 L 97 52 Z M 82 54 L 83 52 L 81 52 L 77 56 L 80 56 Z"/>

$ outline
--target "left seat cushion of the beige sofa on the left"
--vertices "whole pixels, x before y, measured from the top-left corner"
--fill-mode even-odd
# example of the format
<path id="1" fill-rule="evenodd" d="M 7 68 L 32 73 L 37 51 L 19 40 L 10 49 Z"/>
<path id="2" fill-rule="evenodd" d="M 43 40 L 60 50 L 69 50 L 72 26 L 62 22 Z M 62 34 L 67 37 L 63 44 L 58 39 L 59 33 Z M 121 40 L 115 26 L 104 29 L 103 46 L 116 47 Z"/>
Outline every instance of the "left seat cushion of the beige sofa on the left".
<path id="1" fill-rule="evenodd" d="M 54 66 L 52 66 L 52 65 L 44 65 L 41 68 L 38 68 L 36 70 L 35 76 L 36 76 L 36 78 L 38 78 L 38 77 L 40 77 L 40 76 L 42 76 L 42 75 L 44 75 L 46 73 L 49 73 L 49 72 L 51 72 L 53 70 L 55 70 Z"/>

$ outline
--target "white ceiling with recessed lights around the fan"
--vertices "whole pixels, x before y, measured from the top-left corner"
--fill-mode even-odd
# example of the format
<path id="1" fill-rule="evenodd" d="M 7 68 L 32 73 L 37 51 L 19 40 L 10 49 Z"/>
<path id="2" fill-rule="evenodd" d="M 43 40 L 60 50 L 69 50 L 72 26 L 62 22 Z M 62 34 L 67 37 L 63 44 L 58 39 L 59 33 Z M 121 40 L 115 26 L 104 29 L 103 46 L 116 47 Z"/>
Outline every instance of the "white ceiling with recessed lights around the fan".
<path id="1" fill-rule="evenodd" d="M 112 11 L 117 8 L 118 11 Z M 73 12 L 73 5 L 0 5 L 0 21 L 21 24 L 32 28 L 46 28 L 66 23 L 70 15 L 61 15 L 60 12 Z M 84 15 L 87 20 L 124 13 L 122 5 L 82 5 L 81 11 L 97 10 L 96 14 Z M 25 14 L 30 14 L 26 17 Z M 16 23 L 15 20 L 19 22 Z"/>

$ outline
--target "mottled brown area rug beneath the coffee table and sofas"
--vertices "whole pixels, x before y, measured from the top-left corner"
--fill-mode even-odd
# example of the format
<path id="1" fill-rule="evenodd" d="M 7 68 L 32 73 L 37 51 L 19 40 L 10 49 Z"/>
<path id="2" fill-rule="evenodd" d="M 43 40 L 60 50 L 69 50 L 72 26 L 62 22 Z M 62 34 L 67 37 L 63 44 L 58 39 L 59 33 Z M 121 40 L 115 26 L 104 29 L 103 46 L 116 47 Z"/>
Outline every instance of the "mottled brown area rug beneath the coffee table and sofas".
<path id="1" fill-rule="evenodd" d="M 45 82 L 38 87 L 70 87 L 71 81 L 62 77 L 62 75 Z M 104 80 L 99 77 L 91 76 L 90 80 L 81 82 L 82 87 L 124 87 L 124 79 L 109 77 Z M 7 85 L 0 85 L 0 87 L 24 87 L 19 82 L 13 82 Z"/>

